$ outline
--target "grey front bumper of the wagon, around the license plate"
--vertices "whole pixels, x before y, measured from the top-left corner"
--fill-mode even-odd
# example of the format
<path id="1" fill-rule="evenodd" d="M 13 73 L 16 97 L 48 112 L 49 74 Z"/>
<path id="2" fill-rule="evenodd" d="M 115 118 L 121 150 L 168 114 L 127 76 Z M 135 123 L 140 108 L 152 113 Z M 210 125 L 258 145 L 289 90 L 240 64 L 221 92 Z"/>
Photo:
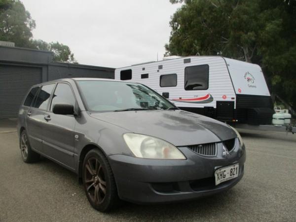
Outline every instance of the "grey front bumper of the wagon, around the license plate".
<path id="1" fill-rule="evenodd" d="M 109 156 L 118 195 L 134 203 L 165 203 L 212 195 L 236 185 L 244 174 L 245 148 L 235 148 L 227 157 L 196 154 L 179 148 L 186 160 L 143 159 L 125 155 Z M 215 185 L 215 170 L 239 163 L 239 176 Z"/>

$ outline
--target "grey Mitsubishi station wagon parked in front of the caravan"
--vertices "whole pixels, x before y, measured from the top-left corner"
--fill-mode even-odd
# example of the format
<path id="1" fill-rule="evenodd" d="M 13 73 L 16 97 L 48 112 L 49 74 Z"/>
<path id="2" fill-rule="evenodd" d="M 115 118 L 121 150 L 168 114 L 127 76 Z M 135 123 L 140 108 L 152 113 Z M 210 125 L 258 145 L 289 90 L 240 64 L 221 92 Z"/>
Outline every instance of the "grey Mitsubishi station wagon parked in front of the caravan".
<path id="1" fill-rule="evenodd" d="M 138 83 L 67 78 L 35 85 L 20 108 L 18 134 L 24 162 L 41 155 L 75 172 L 102 212 L 120 200 L 212 195 L 244 174 L 246 151 L 235 129 L 182 111 Z"/>

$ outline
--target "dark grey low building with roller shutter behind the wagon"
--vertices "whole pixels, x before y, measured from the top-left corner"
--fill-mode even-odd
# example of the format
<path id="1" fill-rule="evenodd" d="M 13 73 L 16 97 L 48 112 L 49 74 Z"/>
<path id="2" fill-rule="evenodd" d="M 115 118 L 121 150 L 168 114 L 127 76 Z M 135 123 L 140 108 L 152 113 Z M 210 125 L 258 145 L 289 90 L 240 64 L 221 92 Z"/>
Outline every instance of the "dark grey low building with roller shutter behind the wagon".
<path id="1" fill-rule="evenodd" d="M 114 78 L 114 69 L 57 63 L 48 51 L 0 46 L 0 118 L 16 118 L 34 84 L 67 77 Z"/>

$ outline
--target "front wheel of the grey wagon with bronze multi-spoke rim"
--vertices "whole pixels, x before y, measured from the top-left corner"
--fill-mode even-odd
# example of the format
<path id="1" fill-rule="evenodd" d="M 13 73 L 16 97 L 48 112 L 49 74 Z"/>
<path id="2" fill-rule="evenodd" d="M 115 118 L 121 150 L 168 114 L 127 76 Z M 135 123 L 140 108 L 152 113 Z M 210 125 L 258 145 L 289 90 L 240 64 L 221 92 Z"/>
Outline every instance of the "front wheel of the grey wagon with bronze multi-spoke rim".
<path id="1" fill-rule="evenodd" d="M 106 156 L 91 149 L 82 165 L 82 181 L 90 205 L 101 212 L 116 208 L 120 202 L 115 179 Z"/>

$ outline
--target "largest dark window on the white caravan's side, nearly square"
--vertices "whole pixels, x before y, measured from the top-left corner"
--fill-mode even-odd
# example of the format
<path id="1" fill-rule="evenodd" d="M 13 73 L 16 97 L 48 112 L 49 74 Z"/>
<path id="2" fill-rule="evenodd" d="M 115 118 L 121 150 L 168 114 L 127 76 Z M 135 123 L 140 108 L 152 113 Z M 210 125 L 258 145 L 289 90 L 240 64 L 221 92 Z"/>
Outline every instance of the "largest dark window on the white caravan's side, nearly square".
<path id="1" fill-rule="evenodd" d="M 209 88 L 209 65 L 187 66 L 184 79 L 185 90 Z"/>

